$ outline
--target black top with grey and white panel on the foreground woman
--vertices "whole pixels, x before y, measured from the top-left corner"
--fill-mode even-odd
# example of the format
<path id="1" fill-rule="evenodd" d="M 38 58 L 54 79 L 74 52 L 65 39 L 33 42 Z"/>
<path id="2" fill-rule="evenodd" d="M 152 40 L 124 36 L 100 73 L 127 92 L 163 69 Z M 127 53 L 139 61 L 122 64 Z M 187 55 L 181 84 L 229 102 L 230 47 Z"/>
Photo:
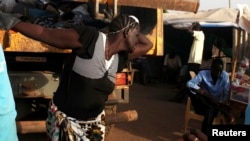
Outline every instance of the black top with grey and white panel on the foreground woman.
<path id="1" fill-rule="evenodd" d="M 127 54 L 113 55 L 106 68 L 106 35 L 86 26 L 76 27 L 76 31 L 83 48 L 72 50 L 53 101 L 67 116 L 88 120 L 105 108 L 108 95 L 114 90 L 116 72 L 124 68 Z"/>

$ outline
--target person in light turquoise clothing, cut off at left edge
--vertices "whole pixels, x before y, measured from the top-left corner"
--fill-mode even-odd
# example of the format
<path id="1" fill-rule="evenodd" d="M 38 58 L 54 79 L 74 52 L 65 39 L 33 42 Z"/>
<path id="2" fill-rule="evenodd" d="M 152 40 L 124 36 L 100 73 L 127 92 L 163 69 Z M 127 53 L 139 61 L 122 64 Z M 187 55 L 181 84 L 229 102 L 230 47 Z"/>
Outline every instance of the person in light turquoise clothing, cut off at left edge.
<path id="1" fill-rule="evenodd" d="M 18 141 L 17 112 L 2 45 L 0 45 L 0 78 L 0 141 Z"/>

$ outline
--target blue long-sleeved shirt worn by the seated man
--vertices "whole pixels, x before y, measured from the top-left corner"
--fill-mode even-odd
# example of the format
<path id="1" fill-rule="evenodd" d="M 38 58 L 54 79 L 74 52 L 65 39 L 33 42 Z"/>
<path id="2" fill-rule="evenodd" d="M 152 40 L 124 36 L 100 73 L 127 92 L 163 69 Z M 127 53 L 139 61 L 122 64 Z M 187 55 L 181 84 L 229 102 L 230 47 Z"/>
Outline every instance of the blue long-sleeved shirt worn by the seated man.
<path id="1" fill-rule="evenodd" d="M 215 99 L 222 102 L 228 98 L 230 88 L 229 75 L 226 71 L 222 71 L 214 84 L 211 70 L 202 70 L 193 79 L 187 82 L 187 87 L 196 90 L 202 88 L 210 93 Z M 192 93 L 195 94 L 195 92 Z"/>

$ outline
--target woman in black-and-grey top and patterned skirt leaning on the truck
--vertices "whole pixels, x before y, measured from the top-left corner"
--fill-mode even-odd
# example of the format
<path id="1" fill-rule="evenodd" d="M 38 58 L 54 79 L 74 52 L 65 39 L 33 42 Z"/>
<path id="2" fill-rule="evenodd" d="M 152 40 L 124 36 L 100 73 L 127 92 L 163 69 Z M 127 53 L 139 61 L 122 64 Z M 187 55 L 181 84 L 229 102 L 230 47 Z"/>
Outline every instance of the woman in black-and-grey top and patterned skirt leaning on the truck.
<path id="1" fill-rule="evenodd" d="M 153 46 L 140 33 L 138 18 L 118 15 L 105 32 L 85 25 L 48 29 L 2 12 L 0 19 L 6 30 L 59 49 L 72 49 L 48 109 L 49 140 L 103 141 L 105 102 L 114 90 L 116 73 Z"/>

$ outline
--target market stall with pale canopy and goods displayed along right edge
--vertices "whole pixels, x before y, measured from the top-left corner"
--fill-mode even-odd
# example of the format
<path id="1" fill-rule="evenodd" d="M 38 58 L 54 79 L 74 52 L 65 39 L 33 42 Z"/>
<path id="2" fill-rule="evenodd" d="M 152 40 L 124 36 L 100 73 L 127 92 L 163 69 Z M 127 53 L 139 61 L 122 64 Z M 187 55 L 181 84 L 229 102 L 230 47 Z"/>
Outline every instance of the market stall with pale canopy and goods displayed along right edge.
<path id="1" fill-rule="evenodd" d="M 225 69 L 231 76 L 232 84 L 237 80 L 237 86 L 232 87 L 229 97 L 230 106 L 233 109 L 232 113 L 236 118 L 242 118 L 245 115 L 246 105 L 250 103 L 250 73 L 248 69 L 250 57 L 249 17 L 247 5 L 239 5 L 239 9 L 218 8 L 197 13 L 174 11 L 163 15 L 165 26 L 171 25 L 173 28 L 183 31 L 183 29 L 187 30 L 191 23 L 199 22 L 205 34 L 213 33 L 225 39 L 229 47 L 226 50 L 219 47 L 220 51 L 224 52 L 219 56 L 221 58 L 224 58 L 225 55 L 229 57 L 229 59 L 224 60 L 226 63 Z M 178 47 L 180 46 L 176 48 Z M 239 82 L 238 79 L 240 79 Z"/>

